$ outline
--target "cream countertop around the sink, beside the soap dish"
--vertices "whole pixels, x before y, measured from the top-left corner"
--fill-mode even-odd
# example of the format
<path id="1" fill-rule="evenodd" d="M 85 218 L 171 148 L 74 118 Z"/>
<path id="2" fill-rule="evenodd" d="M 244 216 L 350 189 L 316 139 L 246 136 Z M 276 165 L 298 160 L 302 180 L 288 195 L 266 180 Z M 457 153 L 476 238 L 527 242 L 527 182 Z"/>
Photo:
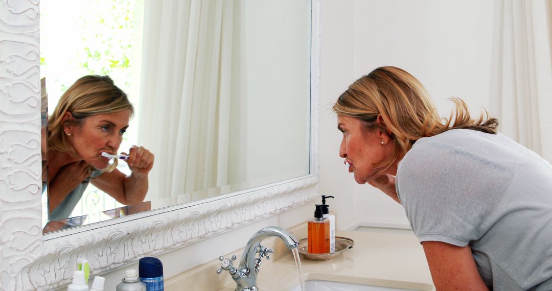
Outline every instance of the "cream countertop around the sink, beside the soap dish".
<path id="1" fill-rule="evenodd" d="M 412 233 L 386 231 L 337 231 L 354 246 L 328 261 L 302 258 L 304 279 L 330 279 L 348 283 L 375 283 L 388 287 L 434 290 L 422 245 Z M 377 280 L 374 280 L 377 279 Z M 299 284 L 293 254 L 261 266 L 257 287 L 261 290 L 290 290 Z M 232 291 L 235 283 L 221 291 Z"/>

